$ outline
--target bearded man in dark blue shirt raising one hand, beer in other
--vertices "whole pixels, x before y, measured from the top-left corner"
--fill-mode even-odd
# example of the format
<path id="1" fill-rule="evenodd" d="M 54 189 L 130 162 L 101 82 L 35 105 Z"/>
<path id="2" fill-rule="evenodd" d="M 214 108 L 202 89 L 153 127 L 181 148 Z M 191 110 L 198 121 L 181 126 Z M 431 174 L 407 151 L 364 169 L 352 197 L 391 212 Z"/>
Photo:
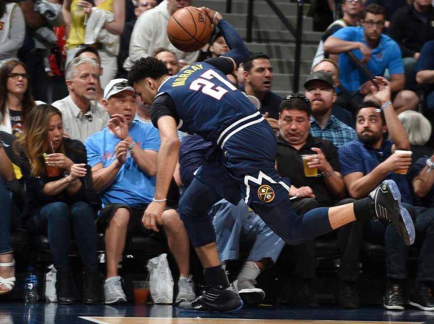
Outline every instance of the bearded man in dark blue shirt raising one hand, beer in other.
<path id="1" fill-rule="evenodd" d="M 429 221 L 420 224 L 420 213 L 412 206 L 413 196 L 406 174 L 401 170 L 411 165 L 411 157 L 403 151 L 410 150 L 410 143 L 390 102 L 389 82 L 377 77 L 380 91 L 374 95 L 379 104 L 364 102 L 356 117 L 358 139 L 339 148 L 341 173 L 348 193 L 354 199 L 363 197 L 381 181 L 392 179 L 396 182 L 403 199 L 404 207 L 411 213 L 415 226 L 424 237 L 423 246 L 434 246 L 434 235 L 429 230 Z M 388 132 L 388 137 L 386 133 Z M 420 226 L 417 226 L 420 225 Z M 398 233 L 391 226 L 381 222 L 364 223 L 366 240 L 385 245 L 387 283 L 383 296 L 383 307 L 390 310 L 403 310 L 403 291 L 407 277 L 408 249 L 398 239 Z M 433 280 L 434 258 L 430 248 L 421 250 L 418 266 L 418 281 L 411 294 L 411 301 L 422 307 L 432 307 L 433 297 L 427 294 L 425 281 Z M 431 304 L 431 305 L 430 305 Z M 430 310 L 430 309 L 424 309 Z"/>

